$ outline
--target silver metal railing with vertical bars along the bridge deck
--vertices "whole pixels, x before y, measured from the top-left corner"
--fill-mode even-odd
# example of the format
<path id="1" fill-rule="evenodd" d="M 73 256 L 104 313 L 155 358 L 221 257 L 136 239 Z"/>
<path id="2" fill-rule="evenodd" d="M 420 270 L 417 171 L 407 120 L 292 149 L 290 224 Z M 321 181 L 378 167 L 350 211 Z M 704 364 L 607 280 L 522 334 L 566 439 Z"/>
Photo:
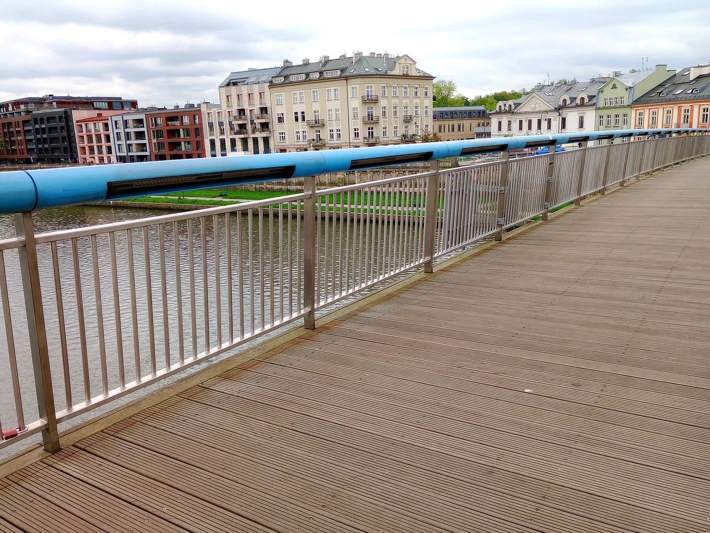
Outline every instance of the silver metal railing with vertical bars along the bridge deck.
<path id="1" fill-rule="evenodd" d="M 490 139 L 488 141 L 491 141 Z M 422 145 L 417 144 L 417 150 Z M 0 240 L 0 448 L 393 276 L 689 158 L 710 136 L 588 146 Z M 229 158 L 225 158 L 229 159 Z M 3 378 L 4 377 L 4 378 Z M 11 421 L 11 424 L 9 423 Z"/>

